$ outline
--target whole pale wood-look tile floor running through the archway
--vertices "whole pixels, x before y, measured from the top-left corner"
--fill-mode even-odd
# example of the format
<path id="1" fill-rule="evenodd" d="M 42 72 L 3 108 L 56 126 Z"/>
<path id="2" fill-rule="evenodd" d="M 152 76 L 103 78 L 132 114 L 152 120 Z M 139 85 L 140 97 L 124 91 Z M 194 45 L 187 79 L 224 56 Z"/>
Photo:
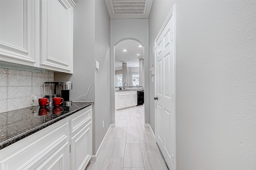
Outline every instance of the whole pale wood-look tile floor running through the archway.
<path id="1" fill-rule="evenodd" d="M 168 170 L 149 127 L 144 127 L 144 106 L 116 111 L 95 162 L 86 170 Z"/>

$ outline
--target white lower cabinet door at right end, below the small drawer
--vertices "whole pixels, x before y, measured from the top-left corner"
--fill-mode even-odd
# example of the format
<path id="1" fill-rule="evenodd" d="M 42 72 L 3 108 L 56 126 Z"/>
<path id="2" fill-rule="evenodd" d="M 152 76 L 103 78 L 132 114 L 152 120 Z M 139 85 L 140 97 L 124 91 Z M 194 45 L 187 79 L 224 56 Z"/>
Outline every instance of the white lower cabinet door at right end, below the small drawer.
<path id="1" fill-rule="evenodd" d="M 92 121 L 70 138 L 70 169 L 84 170 L 92 157 Z"/>

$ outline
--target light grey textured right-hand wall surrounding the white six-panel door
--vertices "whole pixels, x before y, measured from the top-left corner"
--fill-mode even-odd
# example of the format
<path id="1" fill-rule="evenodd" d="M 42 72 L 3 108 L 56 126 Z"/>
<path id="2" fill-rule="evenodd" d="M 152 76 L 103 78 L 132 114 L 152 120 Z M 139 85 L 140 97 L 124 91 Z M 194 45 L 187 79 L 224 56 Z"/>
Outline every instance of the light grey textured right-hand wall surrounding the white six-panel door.
<path id="1" fill-rule="evenodd" d="M 256 2 L 154 1 L 150 64 L 154 38 L 174 3 L 177 170 L 254 170 Z M 153 118 L 150 107 L 152 127 Z"/>

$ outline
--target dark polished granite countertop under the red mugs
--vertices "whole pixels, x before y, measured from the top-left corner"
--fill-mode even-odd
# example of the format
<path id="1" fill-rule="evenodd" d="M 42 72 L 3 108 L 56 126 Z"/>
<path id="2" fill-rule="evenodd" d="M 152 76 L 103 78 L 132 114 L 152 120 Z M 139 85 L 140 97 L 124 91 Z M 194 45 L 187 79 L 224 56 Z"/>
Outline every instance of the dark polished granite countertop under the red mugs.
<path id="1" fill-rule="evenodd" d="M 93 102 L 73 102 L 72 106 L 27 107 L 0 113 L 0 149 L 3 149 L 57 121 L 90 106 Z M 60 110 L 62 111 L 61 113 Z"/>

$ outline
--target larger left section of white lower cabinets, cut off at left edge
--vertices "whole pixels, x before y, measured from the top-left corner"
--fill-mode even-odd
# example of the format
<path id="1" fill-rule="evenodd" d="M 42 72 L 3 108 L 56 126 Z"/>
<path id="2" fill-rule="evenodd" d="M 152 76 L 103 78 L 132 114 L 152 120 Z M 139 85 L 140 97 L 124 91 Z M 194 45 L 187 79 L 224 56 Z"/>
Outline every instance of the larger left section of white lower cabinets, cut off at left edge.
<path id="1" fill-rule="evenodd" d="M 68 123 L 59 121 L 1 149 L 0 164 L 4 170 L 40 169 L 49 165 L 56 170 L 67 170 Z"/>

